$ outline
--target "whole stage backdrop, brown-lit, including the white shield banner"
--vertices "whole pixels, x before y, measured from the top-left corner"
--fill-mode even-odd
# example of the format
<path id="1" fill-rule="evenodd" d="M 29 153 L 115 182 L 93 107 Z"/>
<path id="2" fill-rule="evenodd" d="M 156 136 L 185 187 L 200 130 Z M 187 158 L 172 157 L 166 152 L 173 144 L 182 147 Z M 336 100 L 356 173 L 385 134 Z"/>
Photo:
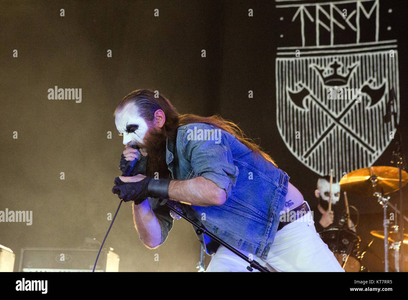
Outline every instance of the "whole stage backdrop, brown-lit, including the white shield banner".
<path id="1" fill-rule="evenodd" d="M 22 248 L 102 242 L 124 149 L 113 111 L 135 89 L 159 91 L 180 113 L 238 123 L 309 201 L 330 169 L 339 179 L 395 166 L 397 124 L 407 149 L 405 1 L 1 5 L 0 211 L 31 212 L 29 225 L 0 222 L 16 270 Z M 55 97 L 60 88 L 73 97 Z M 369 231 L 382 229 L 381 207 L 349 200 L 367 244 Z M 196 271 L 200 259 L 184 220 L 162 246 L 144 247 L 129 203 L 106 246 L 120 256 L 120 271 Z"/>

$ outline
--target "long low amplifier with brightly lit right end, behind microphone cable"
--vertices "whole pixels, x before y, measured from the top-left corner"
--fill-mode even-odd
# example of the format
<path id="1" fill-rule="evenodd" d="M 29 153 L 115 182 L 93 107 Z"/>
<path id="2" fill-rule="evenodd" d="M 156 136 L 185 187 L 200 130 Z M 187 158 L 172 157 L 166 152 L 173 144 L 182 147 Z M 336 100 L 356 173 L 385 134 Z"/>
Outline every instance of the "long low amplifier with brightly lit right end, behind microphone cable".
<path id="1" fill-rule="evenodd" d="M 21 249 L 19 272 L 92 272 L 99 249 Z M 102 249 L 95 272 L 118 272 L 119 256 Z"/>

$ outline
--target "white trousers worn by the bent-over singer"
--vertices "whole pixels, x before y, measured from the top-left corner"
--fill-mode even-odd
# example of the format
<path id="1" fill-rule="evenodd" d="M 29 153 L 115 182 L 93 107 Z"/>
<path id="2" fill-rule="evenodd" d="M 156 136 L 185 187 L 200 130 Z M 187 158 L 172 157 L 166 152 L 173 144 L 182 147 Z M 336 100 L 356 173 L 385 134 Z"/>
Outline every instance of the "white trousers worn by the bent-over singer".
<path id="1" fill-rule="evenodd" d="M 303 217 L 277 231 L 265 260 L 255 254 L 240 252 L 271 271 L 344 272 L 334 254 L 316 232 L 311 216 L 308 211 Z M 206 272 L 249 272 L 246 269 L 248 265 L 248 262 L 220 246 Z M 254 269 L 253 272 L 258 271 Z"/>

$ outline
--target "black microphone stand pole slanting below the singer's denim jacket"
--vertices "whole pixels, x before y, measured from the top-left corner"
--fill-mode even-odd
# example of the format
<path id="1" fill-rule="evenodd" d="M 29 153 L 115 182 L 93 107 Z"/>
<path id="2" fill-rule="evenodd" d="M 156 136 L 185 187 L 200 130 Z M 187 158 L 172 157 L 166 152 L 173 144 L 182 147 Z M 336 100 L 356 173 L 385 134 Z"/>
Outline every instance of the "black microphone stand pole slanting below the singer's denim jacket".
<path id="1" fill-rule="evenodd" d="M 163 205 L 166 205 L 166 207 L 168 207 L 171 211 L 173 211 L 174 213 L 176 213 L 177 215 L 181 216 L 184 220 L 186 220 L 187 222 L 191 223 L 194 227 L 197 227 L 197 230 L 195 231 L 195 233 L 197 233 L 197 235 L 200 234 L 205 234 L 206 236 L 209 236 L 210 238 L 212 238 L 213 240 L 215 240 L 216 242 L 218 242 L 219 244 L 222 244 L 225 248 L 227 248 L 228 250 L 230 250 L 231 252 L 233 252 L 234 254 L 236 254 L 237 256 L 239 256 L 240 258 L 242 258 L 243 260 L 245 260 L 246 262 L 249 263 L 249 266 L 246 267 L 246 269 L 248 269 L 248 271 L 253 271 L 253 269 L 256 269 L 260 272 L 270 272 L 268 268 L 263 267 L 262 265 L 259 264 L 259 262 L 257 262 L 256 260 L 251 260 L 248 257 L 246 257 L 244 254 L 242 254 L 241 252 L 239 252 L 238 250 L 236 250 L 235 248 L 231 247 L 229 244 L 227 244 L 226 242 L 224 242 L 223 240 L 221 240 L 220 238 L 217 238 L 215 235 L 213 235 L 213 233 L 209 232 L 206 227 L 203 224 L 196 224 L 193 220 L 191 220 L 190 218 L 188 218 L 187 216 L 184 215 L 184 213 L 181 213 L 180 211 L 176 210 L 174 207 L 172 207 L 169 203 L 165 202 Z"/>

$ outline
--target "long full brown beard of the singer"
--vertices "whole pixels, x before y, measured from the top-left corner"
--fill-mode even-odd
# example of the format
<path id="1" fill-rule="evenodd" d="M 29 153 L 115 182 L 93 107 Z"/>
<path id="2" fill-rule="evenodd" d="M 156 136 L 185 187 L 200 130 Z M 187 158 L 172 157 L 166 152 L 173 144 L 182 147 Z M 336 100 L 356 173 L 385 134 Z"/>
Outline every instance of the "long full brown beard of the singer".
<path id="1" fill-rule="evenodd" d="M 154 177 L 158 173 L 159 178 L 169 178 L 170 171 L 166 163 L 166 143 L 167 139 L 163 129 L 149 128 L 144 136 L 143 144 L 138 144 L 147 152 L 146 176 Z"/>

